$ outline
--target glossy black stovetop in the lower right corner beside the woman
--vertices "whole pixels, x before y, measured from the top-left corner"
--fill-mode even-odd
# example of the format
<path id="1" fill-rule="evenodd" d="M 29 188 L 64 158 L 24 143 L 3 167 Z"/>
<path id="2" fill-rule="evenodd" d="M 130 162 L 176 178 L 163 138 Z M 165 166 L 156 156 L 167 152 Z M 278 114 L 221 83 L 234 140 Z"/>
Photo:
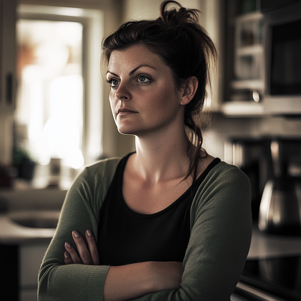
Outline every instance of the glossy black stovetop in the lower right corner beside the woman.
<path id="1" fill-rule="evenodd" d="M 240 281 L 301 301 L 301 256 L 247 260 Z"/>

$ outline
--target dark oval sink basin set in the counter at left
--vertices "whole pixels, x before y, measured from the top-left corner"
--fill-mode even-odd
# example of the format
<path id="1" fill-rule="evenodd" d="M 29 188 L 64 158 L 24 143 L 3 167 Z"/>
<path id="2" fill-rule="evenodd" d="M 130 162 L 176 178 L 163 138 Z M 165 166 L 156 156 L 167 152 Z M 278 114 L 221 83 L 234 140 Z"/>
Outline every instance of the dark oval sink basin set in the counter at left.
<path id="1" fill-rule="evenodd" d="M 30 228 L 56 228 L 60 210 L 14 211 L 8 216 L 15 223 Z"/>

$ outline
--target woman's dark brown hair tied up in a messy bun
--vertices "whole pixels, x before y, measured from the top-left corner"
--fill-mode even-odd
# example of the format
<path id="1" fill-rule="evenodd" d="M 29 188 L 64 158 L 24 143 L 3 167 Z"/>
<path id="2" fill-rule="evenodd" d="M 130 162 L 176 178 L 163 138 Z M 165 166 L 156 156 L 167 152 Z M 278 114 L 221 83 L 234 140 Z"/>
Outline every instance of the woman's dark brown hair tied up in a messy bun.
<path id="1" fill-rule="evenodd" d="M 176 8 L 168 9 L 168 4 Z M 186 9 L 176 1 L 164 1 L 160 17 L 123 23 L 113 34 L 104 39 L 102 61 L 108 64 L 113 50 L 124 50 L 133 45 L 144 45 L 160 56 L 172 71 L 175 85 L 181 89 L 191 76 L 198 79 L 194 98 L 185 105 L 184 123 L 190 141 L 188 157 L 190 166 L 186 178 L 197 176 L 197 165 L 203 143 L 201 126 L 197 124 L 206 98 L 206 84 L 210 83 L 210 58 L 216 58 L 216 48 L 206 30 L 198 23 L 197 9 Z"/>

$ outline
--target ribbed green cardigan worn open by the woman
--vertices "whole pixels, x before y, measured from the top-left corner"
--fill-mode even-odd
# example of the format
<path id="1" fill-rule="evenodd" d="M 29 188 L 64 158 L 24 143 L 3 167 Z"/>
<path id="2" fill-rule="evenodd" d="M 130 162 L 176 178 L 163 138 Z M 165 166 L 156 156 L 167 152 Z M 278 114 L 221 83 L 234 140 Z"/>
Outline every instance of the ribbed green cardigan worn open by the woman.
<path id="1" fill-rule="evenodd" d="M 103 300 L 109 266 L 64 265 L 64 243 L 69 241 L 76 247 L 72 231 L 78 230 L 85 237 L 88 228 L 97 239 L 99 210 L 119 160 L 102 160 L 86 167 L 68 191 L 39 272 L 39 301 Z M 214 166 L 191 205 L 182 288 L 135 300 L 229 300 L 251 243 L 250 200 L 250 182 L 240 169 L 225 162 Z"/>

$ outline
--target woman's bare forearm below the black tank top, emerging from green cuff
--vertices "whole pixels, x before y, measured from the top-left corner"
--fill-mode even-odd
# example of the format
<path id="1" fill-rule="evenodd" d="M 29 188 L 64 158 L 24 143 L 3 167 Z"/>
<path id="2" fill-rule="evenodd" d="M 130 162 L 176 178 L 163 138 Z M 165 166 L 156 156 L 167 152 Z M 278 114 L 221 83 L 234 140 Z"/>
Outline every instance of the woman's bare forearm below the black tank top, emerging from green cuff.
<path id="1" fill-rule="evenodd" d="M 182 262 L 140 262 L 111 266 L 104 281 L 104 301 L 134 299 L 180 288 Z"/>

